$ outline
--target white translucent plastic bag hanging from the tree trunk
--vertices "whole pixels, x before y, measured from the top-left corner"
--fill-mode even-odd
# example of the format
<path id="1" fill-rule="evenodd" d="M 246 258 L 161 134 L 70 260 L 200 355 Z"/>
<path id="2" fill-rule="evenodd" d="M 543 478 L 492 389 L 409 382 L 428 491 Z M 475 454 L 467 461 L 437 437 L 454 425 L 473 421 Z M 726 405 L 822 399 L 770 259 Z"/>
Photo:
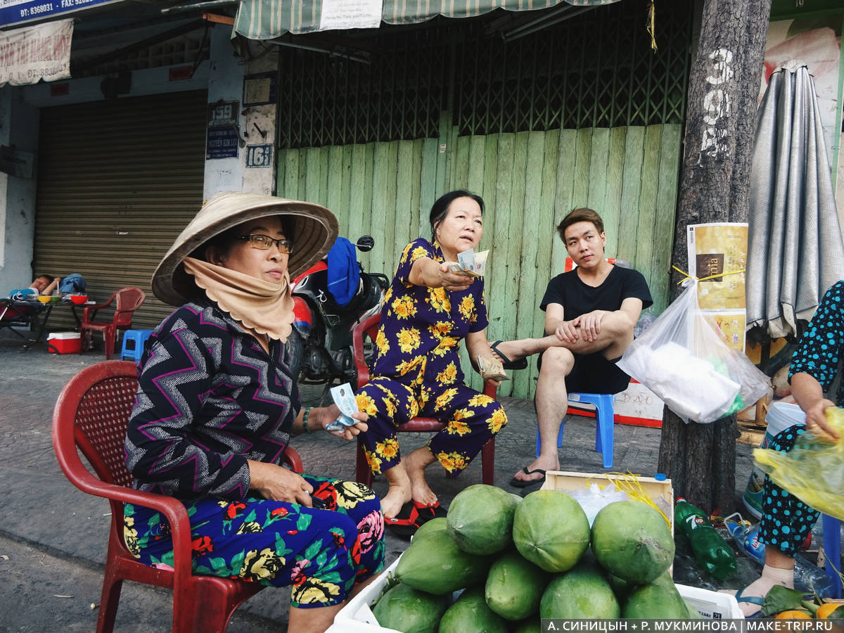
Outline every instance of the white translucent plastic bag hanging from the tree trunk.
<path id="1" fill-rule="evenodd" d="M 771 387 L 768 376 L 706 321 L 694 280 L 618 365 L 686 422 L 714 422 L 749 407 Z"/>

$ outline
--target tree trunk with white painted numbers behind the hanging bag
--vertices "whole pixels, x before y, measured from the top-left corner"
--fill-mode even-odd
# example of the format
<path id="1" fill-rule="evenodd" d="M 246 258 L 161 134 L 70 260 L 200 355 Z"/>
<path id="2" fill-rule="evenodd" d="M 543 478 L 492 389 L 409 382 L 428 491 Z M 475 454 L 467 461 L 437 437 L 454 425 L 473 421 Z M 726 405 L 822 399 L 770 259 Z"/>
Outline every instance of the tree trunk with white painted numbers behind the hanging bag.
<path id="1" fill-rule="evenodd" d="M 686 227 L 746 222 L 750 154 L 771 0 L 704 0 L 689 77 L 673 263 L 688 268 Z M 674 297 L 681 278 L 672 272 Z M 690 386 L 690 388 L 694 388 Z M 682 495 L 727 511 L 735 492 L 735 417 L 686 425 L 665 409 L 659 470 Z"/>

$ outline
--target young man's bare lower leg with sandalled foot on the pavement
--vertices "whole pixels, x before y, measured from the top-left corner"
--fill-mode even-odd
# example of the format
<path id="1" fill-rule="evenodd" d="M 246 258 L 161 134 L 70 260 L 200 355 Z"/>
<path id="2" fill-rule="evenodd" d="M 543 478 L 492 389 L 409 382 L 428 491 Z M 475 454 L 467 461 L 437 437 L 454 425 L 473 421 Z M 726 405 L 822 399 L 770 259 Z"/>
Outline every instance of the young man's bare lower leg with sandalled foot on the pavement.
<path id="1" fill-rule="evenodd" d="M 556 337 L 554 337 L 556 338 Z M 503 350 L 502 350 L 503 351 Z M 575 357 L 570 350 L 555 347 L 548 349 L 542 357 L 542 369 L 536 383 L 536 419 L 539 427 L 539 457 L 527 465 L 527 470 L 560 470 L 560 456 L 557 452 L 557 435 L 560 424 L 569 406 L 565 389 L 565 376 L 571 373 Z M 516 473 L 520 481 L 538 481 L 540 473 Z"/>

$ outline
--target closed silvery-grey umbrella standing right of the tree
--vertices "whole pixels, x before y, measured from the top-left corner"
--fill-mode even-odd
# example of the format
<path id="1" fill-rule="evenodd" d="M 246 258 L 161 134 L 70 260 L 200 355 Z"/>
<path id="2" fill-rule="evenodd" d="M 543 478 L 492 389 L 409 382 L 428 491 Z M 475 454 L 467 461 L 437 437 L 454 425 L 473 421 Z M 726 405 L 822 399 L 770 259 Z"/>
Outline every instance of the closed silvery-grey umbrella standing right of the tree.
<path id="1" fill-rule="evenodd" d="M 771 74 L 756 116 L 750 174 L 748 327 L 798 335 L 844 279 L 844 241 L 809 68 Z"/>

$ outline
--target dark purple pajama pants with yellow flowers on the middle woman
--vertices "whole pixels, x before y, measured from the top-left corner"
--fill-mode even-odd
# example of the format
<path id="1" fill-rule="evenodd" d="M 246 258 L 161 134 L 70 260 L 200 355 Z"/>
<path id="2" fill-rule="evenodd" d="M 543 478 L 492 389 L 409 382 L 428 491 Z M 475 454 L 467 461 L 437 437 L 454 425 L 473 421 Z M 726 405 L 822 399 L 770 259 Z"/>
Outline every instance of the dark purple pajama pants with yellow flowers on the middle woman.
<path id="1" fill-rule="evenodd" d="M 358 390 L 357 401 L 358 408 L 370 416 L 366 423 L 369 430 L 359 438 L 374 474 L 401 461 L 398 427 L 417 416 L 446 424 L 430 439 L 428 449 L 455 476 L 507 424 L 507 415 L 497 400 L 462 383 L 411 387 L 379 376 Z"/>

